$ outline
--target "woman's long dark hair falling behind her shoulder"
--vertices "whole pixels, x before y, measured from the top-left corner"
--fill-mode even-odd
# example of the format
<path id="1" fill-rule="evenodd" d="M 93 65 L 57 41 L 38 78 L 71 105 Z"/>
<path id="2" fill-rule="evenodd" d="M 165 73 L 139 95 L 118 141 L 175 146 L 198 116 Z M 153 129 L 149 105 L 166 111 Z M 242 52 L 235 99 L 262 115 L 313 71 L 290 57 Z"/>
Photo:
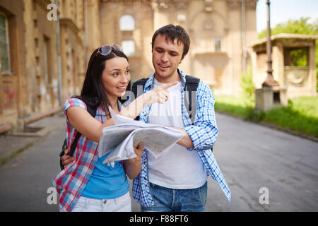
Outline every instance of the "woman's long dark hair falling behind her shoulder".
<path id="1" fill-rule="evenodd" d="M 108 106 L 110 106 L 110 100 L 105 94 L 105 90 L 102 87 L 102 71 L 105 69 L 105 64 L 107 64 L 107 59 L 112 59 L 114 57 L 124 57 L 128 61 L 128 57 L 126 55 L 112 47 L 112 52 L 107 54 L 107 56 L 103 56 L 98 53 L 98 49 L 95 49 L 93 54 L 90 56 L 90 61 L 88 62 L 88 67 L 86 71 L 86 77 L 83 83 L 83 87 L 81 90 L 81 95 L 76 96 L 79 99 L 84 99 L 90 105 L 90 107 L 97 108 L 102 105 L 102 108 L 106 112 L 106 117 L 110 119 L 110 110 Z M 127 85 L 126 91 L 131 89 L 131 83 Z M 122 102 L 120 97 L 118 100 Z"/>

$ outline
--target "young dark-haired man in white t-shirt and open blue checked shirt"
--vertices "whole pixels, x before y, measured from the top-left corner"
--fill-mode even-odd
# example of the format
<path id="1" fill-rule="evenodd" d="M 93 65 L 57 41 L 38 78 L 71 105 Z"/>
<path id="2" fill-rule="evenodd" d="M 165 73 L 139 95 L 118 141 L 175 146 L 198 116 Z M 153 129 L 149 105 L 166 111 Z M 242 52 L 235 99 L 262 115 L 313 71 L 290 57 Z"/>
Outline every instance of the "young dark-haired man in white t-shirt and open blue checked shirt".
<path id="1" fill-rule="evenodd" d="M 142 211 L 204 211 L 208 174 L 216 179 L 230 201 L 228 184 L 211 151 L 218 136 L 211 88 L 199 82 L 194 124 L 184 105 L 185 76 L 177 67 L 187 55 L 189 45 L 189 35 L 179 25 L 166 25 L 153 35 L 155 73 L 144 85 L 143 93 L 163 83 L 178 83 L 168 89 L 167 102 L 147 105 L 139 120 L 172 126 L 185 135 L 159 156 L 144 149 L 142 169 L 133 182 L 133 196 Z"/>

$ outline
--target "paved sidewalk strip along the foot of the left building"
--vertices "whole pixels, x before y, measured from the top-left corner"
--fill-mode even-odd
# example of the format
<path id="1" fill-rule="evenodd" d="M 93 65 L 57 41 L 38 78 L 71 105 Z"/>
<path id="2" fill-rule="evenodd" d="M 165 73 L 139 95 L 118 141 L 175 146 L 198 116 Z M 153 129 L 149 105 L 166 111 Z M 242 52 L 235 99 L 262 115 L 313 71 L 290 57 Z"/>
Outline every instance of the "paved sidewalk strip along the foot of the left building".
<path id="1" fill-rule="evenodd" d="M 42 141 L 48 133 L 65 126 L 63 112 L 45 117 L 25 126 L 25 131 L 0 136 L 0 165 L 26 148 Z"/>

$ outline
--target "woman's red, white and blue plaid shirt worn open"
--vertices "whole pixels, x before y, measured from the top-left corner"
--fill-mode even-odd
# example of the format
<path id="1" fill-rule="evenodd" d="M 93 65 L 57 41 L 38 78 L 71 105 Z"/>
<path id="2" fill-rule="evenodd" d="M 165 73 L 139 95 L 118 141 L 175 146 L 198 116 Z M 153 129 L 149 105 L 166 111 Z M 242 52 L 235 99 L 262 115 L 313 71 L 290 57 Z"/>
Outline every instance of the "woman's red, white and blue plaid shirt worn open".
<path id="1" fill-rule="evenodd" d="M 64 104 L 66 141 L 68 147 L 71 147 L 71 143 L 76 136 L 76 129 L 70 124 L 66 114 L 66 109 L 73 106 L 86 109 L 86 104 L 78 98 L 69 98 Z M 105 122 L 105 111 L 102 110 L 102 107 L 98 107 L 95 119 L 100 121 L 100 123 Z M 67 165 L 65 169 L 52 179 L 52 185 L 59 193 L 59 203 L 64 211 L 71 211 L 73 209 L 88 183 L 88 179 L 98 161 L 97 147 L 98 143 L 86 138 L 86 136 L 81 136 L 78 139 L 78 144 L 74 152 L 76 162 Z"/>

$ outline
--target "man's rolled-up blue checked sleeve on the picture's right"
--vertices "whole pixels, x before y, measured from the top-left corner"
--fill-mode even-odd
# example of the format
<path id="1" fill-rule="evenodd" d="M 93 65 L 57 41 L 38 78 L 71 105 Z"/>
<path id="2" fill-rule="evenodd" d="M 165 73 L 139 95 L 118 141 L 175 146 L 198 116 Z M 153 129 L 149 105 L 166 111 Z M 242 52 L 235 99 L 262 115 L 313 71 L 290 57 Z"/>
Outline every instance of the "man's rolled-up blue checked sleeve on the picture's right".
<path id="1" fill-rule="evenodd" d="M 196 118 L 194 125 L 189 124 L 184 127 L 194 145 L 194 148 L 187 148 L 188 150 L 208 150 L 216 142 L 218 127 L 216 125 L 214 102 L 211 88 L 200 81 L 196 93 Z"/>

